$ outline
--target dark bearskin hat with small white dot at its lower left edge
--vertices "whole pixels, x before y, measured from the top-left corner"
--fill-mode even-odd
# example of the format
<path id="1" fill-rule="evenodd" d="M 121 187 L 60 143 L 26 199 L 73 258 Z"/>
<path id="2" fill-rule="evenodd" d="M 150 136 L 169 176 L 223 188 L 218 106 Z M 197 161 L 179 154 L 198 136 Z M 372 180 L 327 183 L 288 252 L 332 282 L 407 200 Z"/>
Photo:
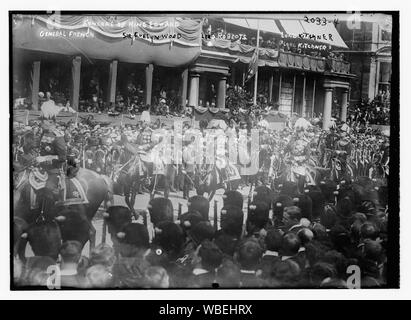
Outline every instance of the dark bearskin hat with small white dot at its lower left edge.
<path id="1" fill-rule="evenodd" d="M 163 221 L 155 229 L 154 242 L 168 255 L 178 255 L 184 245 L 184 233 L 181 227 L 174 222 Z"/>

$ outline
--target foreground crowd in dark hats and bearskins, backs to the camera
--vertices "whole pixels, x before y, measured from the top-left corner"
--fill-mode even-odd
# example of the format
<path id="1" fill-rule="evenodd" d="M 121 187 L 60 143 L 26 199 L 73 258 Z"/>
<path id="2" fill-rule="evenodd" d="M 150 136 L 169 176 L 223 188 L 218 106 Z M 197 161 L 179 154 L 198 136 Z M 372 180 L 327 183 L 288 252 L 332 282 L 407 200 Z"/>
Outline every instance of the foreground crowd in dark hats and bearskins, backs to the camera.
<path id="1" fill-rule="evenodd" d="M 283 191 L 273 203 L 277 209 L 284 207 L 280 220 L 277 209 L 269 218 L 266 195 L 260 193 L 243 235 L 241 193 L 226 192 L 218 231 L 202 214 L 205 210 L 208 216 L 207 199 L 195 196 L 191 206 L 201 206 L 190 208 L 179 223 L 160 222 L 151 243 L 147 228 L 131 223 L 124 228 L 124 241 L 114 247 L 100 244 L 88 256 L 82 255 L 79 243 L 67 241 L 57 260 L 37 256 L 23 263 L 15 258 L 14 281 L 46 286 L 48 268 L 55 266 L 61 271 L 61 286 L 76 288 L 384 286 L 387 213 L 369 201 L 357 205 L 350 197 L 336 206 L 321 205 L 327 203 L 329 187 L 327 183 L 316 189 L 313 200 Z M 344 188 L 340 193 L 349 194 L 350 187 Z M 379 204 L 384 205 L 382 199 Z M 349 266 L 360 270 L 355 280 Z"/>

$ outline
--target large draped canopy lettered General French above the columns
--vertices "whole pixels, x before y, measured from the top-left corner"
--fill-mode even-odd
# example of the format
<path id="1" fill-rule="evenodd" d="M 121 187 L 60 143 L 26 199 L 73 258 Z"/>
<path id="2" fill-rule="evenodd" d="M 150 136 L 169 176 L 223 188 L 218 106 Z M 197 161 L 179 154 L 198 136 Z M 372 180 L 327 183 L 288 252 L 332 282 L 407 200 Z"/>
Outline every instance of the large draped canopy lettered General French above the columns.
<path id="1" fill-rule="evenodd" d="M 88 60 L 178 67 L 200 55 L 201 30 L 200 21 L 186 18 L 24 15 L 13 23 L 13 45 Z"/>

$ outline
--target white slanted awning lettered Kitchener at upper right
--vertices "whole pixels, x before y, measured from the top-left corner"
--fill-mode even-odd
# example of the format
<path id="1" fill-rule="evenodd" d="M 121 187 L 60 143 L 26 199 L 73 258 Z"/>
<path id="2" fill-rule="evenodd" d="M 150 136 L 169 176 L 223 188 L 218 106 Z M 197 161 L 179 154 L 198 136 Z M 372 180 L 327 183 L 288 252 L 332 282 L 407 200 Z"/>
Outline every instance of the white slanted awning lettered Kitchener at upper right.
<path id="1" fill-rule="evenodd" d="M 339 48 L 348 48 L 332 23 L 318 25 L 301 19 L 279 20 L 279 22 L 289 37 L 321 42 Z"/>

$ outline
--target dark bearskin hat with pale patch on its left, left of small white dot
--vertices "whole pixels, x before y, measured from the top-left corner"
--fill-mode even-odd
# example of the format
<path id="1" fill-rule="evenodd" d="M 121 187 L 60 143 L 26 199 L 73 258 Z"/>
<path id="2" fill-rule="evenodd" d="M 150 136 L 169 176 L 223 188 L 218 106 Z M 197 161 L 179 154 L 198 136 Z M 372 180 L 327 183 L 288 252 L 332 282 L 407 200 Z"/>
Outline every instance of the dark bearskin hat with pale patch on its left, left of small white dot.
<path id="1" fill-rule="evenodd" d="M 121 255 L 131 257 L 149 248 L 149 235 L 146 226 L 129 223 L 117 233 Z"/>

